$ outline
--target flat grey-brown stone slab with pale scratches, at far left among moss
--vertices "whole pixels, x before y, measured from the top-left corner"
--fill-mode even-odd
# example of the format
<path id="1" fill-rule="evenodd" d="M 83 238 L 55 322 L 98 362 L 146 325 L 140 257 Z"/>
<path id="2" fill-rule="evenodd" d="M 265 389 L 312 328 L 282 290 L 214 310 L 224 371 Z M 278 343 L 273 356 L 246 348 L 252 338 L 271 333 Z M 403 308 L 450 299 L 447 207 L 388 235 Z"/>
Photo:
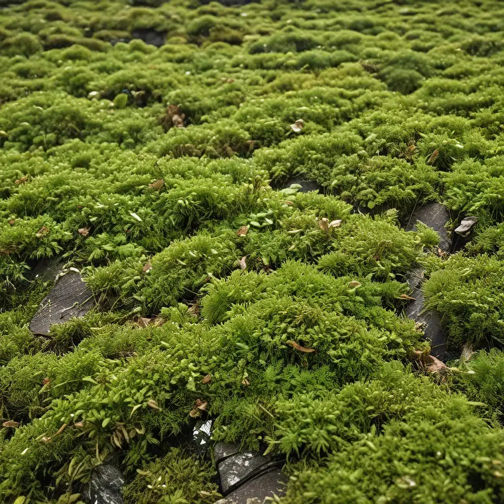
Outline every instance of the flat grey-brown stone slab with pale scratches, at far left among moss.
<path id="1" fill-rule="evenodd" d="M 30 322 L 34 334 L 49 336 L 51 324 L 61 324 L 73 317 L 83 317 L 95 301 L 91 290 L 76 271 L 59 276 L 54 287 L 42 300 Z"/>

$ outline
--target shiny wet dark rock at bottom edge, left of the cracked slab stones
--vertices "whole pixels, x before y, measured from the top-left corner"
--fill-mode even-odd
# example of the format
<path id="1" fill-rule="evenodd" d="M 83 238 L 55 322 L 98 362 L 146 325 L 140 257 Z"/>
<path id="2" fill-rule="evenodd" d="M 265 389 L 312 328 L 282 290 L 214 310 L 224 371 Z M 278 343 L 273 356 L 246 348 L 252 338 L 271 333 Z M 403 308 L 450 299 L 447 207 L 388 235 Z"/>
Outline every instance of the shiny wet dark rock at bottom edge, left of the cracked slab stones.
<path id="1" fill-rule="evenodd" d="M 83 497 L 86 504 L 123 504 L 124 478 L 117 467 L 104 464 L 93 470 Z"/>

